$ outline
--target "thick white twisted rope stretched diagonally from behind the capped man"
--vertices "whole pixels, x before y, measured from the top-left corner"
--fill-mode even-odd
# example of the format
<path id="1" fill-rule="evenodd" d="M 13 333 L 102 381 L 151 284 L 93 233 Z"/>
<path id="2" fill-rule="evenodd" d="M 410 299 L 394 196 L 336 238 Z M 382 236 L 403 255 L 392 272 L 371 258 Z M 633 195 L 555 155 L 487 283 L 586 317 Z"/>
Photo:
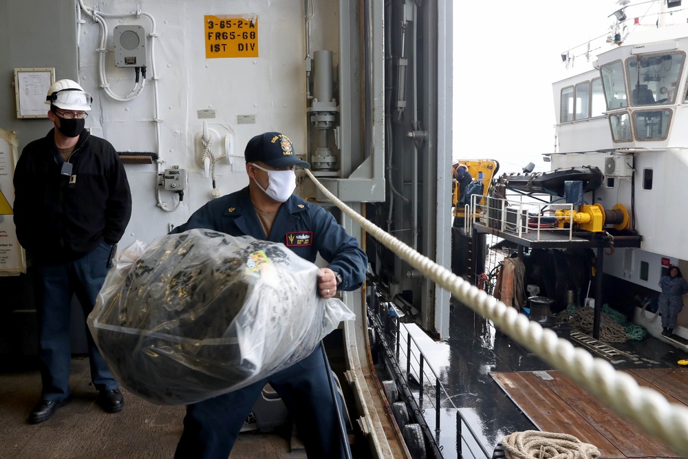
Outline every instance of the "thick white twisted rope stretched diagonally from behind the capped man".
<path id="1" fill-rule="evenodd" d="M 539 323 L 519 314 L 515 308 L 506 306 L 484 290 L 471 286 L 450 270 L 420 255 L 338 200 L 308 169 L 305 169 L 305 173 L 341 211 L 413 268 L 449 290 L 451 295 L 475 312 L 493 321 L 511 339 L 561 370 L 616 412 L 634 420 L 647 433 L 661 438 L 676 452 L 688 456 L 688 409 L 685 406 L 669 403 L 654 389 L 640 387 L 632 376 L 614 370 L 610 363 L 593 357 L 583 348 L 575 348 L 568 340 L 557 337 L 552 330 L 542 328 Z"/>

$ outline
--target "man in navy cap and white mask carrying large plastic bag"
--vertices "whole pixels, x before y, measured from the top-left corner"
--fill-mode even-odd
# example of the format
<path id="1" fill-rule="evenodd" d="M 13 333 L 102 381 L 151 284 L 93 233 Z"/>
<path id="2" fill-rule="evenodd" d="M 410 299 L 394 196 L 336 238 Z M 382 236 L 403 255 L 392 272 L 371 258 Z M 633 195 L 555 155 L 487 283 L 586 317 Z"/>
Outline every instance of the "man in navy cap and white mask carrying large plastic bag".
<path id="1" fill-rule="evenodd" d="M 316 255 L 327 262 L 314 282 L 321 297 L 337 290 L 355 290 L 365 280 L 367 257 L 354 237 L 320 206 L 292 194 L 296 188 L 294 167 L 310 167 L 294 155 L 292 142 L 278 132 L 252 138 L 246 151 L 249 184 L 235 193 L 208 202 L 172 233 L 193 228 L 222 231 L 233 236 L 281 242 L 308 261 Z M 286 370 L 248 387 L 186 406 L 184 431 L 175 458 L 222 458 L 229 456 L 261 390 L 270 383 L 294 418 L 309 458 L 344 458 L 330 374 L 321 346 Z M 342 403 L 337 394 L 339 412 Z"/>

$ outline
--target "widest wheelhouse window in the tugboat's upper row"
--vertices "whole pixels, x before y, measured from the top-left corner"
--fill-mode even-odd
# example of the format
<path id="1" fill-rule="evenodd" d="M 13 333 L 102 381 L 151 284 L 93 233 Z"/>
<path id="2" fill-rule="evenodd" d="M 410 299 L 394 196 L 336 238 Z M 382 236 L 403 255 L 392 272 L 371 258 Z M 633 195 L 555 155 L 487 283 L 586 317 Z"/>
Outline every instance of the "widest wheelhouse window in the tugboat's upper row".
<path id="1" fill-rule="evenodd" d="M 632 105 L 674 103 L 683 61 L 682 52 L 629 58 L 626 65 Z"/>

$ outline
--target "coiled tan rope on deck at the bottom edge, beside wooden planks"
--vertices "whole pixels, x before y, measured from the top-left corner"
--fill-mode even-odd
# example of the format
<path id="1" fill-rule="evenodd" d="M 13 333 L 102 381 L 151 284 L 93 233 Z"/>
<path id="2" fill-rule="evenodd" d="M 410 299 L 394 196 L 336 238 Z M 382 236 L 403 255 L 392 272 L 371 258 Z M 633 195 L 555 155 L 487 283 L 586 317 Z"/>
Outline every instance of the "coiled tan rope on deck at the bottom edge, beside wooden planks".
<path id="1" fill-rule="evenodd" d="M 555 432 L 526 430 L 502 440 L 507 459 L 597 459 L 600 451 L 590 443 Z"/>

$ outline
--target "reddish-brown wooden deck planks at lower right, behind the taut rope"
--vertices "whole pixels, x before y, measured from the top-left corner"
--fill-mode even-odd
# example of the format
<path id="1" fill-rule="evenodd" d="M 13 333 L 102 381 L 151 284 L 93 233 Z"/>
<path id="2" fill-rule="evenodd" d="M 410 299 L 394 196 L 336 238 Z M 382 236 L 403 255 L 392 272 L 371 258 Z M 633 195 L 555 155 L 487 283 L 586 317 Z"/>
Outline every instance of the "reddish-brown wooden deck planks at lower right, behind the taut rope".
<path id="1" fill-rule="evenodd" d="M 639 385 L 664 392 L 672 402 L 688 399 L 682 369 L 632 370 Z M 617 415 L 561 372 L 492 373 L 504 392 L 543 431 L 570 434 L 598 447 L 602 458 L 678 458 L 661 440 Z M 676 398 L 672 396 L 676 394 Z"/>

